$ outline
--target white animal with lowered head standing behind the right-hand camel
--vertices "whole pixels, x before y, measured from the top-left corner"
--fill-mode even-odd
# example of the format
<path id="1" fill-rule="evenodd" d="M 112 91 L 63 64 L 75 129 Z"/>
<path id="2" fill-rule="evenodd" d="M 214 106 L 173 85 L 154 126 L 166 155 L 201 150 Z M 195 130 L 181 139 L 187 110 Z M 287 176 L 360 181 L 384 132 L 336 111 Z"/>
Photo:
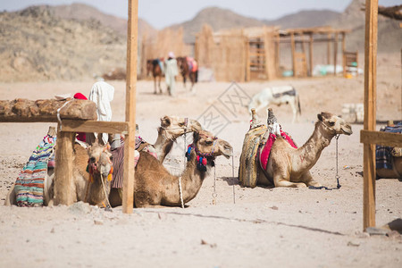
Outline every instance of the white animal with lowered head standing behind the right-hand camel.
<path id="1" fill-rule="evenodd" d="M 278 106 L 289 104 L 293 111 L 292 122 L 297 121 L 301 114 L 299 96 L 292 86 L 264 88 L 251 98 L 248 112 L 255 108 L 255 112 L 258 113 L 259 110 L 272 104 Z"/>

